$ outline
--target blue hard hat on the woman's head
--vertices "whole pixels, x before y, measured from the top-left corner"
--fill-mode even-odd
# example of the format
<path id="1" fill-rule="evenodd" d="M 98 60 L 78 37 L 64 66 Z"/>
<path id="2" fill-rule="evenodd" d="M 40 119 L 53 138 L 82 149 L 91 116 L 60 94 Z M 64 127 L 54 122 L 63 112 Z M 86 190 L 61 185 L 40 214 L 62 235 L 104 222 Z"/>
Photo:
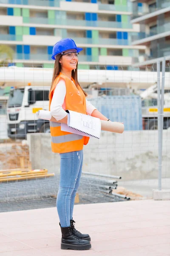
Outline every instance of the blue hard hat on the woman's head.
<path id="1" fill-rule="evenodd" d="M 69 49 L 76 49 L 77 52 L 81 52 L 82 48 L 77 47 L 77 45 L 75 44 L 74 40 L 71 38 L 65 38 L 62 40 L 59 40 L 53 47 L 53 55 L 52 55 L 52 59 L 55 60 L 55 55 L 61 53 L 61 52 L 65 52 Z"/>

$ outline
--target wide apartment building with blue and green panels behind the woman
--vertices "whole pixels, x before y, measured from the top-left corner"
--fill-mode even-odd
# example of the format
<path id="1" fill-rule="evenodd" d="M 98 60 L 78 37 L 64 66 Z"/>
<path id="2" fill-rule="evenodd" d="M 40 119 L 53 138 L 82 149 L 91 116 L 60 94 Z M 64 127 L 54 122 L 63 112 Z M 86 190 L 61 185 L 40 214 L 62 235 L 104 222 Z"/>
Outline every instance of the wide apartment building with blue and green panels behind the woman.
<path id="1" fill-rule="evenodd" d="M 83 51 L 81 69 L 119 70 L 144 55 L 132 45 L 130 0 L 0 0 L 0 44 L 15 52 L 17 67 L 53 67 L 53 45 L 73 38 Z"/>

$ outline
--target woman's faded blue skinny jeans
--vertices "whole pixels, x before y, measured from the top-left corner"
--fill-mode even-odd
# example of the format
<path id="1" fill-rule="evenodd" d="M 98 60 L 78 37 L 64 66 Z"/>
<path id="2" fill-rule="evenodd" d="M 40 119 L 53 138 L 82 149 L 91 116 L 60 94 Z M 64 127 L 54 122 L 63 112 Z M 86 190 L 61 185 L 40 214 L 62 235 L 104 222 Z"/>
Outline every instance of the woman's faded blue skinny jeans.
<path id="1" fill-rule="evenodd" d="M 82 174 L 83 150 L 60 155 L 60 182 L 57 194 L 57 211 L 61 227 L 70 226 L 74 200 Z"/>

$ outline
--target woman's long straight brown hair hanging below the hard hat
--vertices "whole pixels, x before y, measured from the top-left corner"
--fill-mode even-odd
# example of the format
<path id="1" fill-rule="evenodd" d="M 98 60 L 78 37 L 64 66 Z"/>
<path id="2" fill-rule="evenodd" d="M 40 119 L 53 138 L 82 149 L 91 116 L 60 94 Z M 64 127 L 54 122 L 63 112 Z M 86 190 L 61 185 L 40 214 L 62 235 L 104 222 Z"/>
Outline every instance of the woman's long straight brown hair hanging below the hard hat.
<path id="1" fill-rule="evenodd" d="M 61 72 L 61 65 L 59 63 L 60 58 L 62 57 L 62 54 L 58 54 L 56 56 L 56 60 L 55 60 L 55 64 L 54 64 L 54 71 L 53 71 L 53 78 L 52 78 L 52 82 L 51 82 L 51 88 L 50 88 L 50 93 L 51 93 L 51 89 L 53 87 L 54 84 L 54 80 L 57 78 L 57 76 L 59 76 L 59 73 Z M 78 63 L 77 63 L 78 66 Z M 78 79 L 77 79 L 77 66 L 75 70 L 72 70 L 71 72 L 71 77 L 75 80 L 76 83 L 76 87 L 77 89 L 79 89 L 79 87 L 82 89 L 82 87 L 80 86 Z M 85 94 L 85 96 L 88 96 L 88 94 L 82 89 L 83 93 Z"/>

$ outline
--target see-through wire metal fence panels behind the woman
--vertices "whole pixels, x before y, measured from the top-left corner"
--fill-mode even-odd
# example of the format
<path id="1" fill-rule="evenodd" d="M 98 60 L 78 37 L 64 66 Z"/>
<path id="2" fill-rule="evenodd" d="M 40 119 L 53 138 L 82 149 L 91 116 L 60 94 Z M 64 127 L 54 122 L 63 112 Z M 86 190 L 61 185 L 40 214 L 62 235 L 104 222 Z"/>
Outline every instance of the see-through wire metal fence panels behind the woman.
<path id="1" fill-rule="evenodd" d="M 102 131 L 99 140 L 91 138 L 84 147 L 79 203 L 152 198 L 153 189 L 170 186 L 169 69 L 163 58 L 156 68 L 145 71 L 125 67 L 79 71 L 88 100 L 112 121 L 125 125 L 123 134 Z M 0 68 L 2 211 L 23 209 L 19 207 L 23 201 L 30 209 L 43 207 L 42 200 L 54 206 L 59 186 L 59 155 L 51 152 L 49 123 L 35 116 L 38 109 L 48 109 L 52 70 L 29 72 Z M 37 72 L 43 72 L 41 81 Z M 30 89 L 34 106 L 28 104 Z"/>

